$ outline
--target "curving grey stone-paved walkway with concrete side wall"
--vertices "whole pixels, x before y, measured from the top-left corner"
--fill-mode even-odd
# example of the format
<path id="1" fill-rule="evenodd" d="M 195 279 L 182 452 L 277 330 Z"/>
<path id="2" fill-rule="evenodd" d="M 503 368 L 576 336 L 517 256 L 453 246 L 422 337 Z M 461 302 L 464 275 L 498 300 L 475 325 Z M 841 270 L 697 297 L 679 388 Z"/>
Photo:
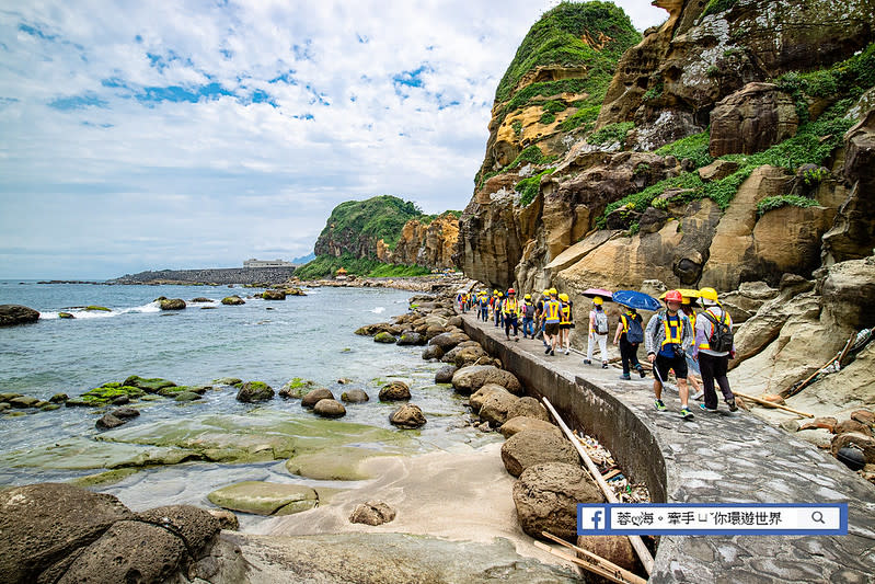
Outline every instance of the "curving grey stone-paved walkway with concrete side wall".
<path id="1" fill-rule="evenodd" d="M 664 536 L 651 582 L 875 582 L 875 486 L 829 454 L 723 403 L 713 414 L 691 401 L 695 419 L 683 421 L 677 393 L 665 391 L 668 412 L 656 412 L 649 375 L 623 381 L 618 368 L 546 356 L 540 341 L 508 342 L 472 313 L 463 321 L 529 393 L 597 436 L 654 502 L 849 503 L 848 536 Z"/>

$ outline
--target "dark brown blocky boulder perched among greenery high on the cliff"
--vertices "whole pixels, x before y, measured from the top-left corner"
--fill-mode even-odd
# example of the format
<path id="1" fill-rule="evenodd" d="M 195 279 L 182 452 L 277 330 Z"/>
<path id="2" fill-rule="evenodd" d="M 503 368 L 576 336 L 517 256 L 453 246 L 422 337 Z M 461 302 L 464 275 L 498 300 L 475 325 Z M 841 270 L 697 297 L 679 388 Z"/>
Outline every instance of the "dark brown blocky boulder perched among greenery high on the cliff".
<path id="1" fill-rule="evenodd" d="M 712 158 L 753 154 L 796 135 L 793 98 L 773 83 L 748 83 L 711 111 Z"/>

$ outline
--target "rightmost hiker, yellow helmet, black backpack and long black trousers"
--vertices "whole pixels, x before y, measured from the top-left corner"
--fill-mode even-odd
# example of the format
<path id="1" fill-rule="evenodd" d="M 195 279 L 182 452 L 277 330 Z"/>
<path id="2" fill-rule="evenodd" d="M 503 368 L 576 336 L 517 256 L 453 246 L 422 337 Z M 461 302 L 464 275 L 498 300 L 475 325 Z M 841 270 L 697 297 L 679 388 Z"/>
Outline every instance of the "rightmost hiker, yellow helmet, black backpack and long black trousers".
<path id="1" fill-rule="evenodd" d="M 699 293 L 705 308 L 696 319 L 693 343 L 693 358 L 699 362 L 705 393 L 705 402 L 700 408 L 706 412 L 717 411 L 717 393 L 714 391 L 716 380 L 729 411 L 735 412 L 738 405 L 735 404 L 735 394 L 729 389 L 729 379 L 726 377 L 729 358 L 735 358 L 733 319 L 721 306 L 717 290 L 702 288 Z"/>

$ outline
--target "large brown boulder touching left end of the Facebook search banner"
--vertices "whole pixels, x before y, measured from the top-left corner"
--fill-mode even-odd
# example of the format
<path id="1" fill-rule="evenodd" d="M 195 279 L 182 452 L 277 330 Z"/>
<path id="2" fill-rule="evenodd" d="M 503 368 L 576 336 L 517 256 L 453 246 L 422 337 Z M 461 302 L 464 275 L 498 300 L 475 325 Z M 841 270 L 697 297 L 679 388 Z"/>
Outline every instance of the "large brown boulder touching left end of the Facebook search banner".
<path id="1" fill-rule="evenodd" d="M 523 531 L 539 539 L 543 539 L 541 531 L 563 539 L 577 537 L 577 504 L 603 501 L 596 482 L 578 463 L 533 465 L 514 483 L 517 520 Z"/>

